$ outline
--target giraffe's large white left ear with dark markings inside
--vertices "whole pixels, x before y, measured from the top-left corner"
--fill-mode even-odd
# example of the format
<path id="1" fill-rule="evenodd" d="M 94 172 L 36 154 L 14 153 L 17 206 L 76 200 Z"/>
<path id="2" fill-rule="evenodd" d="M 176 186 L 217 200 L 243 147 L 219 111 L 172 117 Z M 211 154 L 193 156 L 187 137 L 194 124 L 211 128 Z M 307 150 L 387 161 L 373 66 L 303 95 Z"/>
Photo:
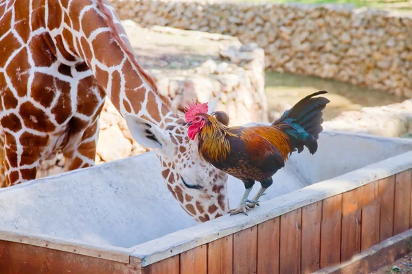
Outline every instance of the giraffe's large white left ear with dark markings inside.
<path id="1" fill-rule="evenodd" d="M 165 147 L 165 134 L 157 125 L 132 114 L 126 114 L 127 127 L 140 145 L 152 149 Z"/>

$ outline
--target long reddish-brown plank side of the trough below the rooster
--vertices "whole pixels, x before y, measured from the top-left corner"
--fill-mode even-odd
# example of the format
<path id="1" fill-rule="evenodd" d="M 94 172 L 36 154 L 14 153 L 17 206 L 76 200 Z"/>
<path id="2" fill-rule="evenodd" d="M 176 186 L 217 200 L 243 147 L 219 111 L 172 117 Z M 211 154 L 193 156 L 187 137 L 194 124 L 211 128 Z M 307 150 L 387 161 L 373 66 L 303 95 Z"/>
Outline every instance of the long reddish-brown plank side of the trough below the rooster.
<path id="1" fill-rule="evenodd" d="M 146 274 L 312 273 L 412 227 L 402 171 L 150 264 Z"/>

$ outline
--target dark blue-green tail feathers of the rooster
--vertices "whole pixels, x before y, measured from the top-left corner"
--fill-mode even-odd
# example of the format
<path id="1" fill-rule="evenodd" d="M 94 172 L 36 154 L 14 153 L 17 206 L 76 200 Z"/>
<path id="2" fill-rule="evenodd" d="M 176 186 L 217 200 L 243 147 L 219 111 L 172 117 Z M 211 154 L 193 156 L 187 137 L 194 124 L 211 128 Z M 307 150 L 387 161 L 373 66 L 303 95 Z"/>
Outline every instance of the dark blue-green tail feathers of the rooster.
<path id="1" fill-rule="evenodd" d="M 293 108 L 286 110 L 282 117 L 272 123 L 288 134 L 293 145 L 293 151 L 298 153 L 304 146 L 311 154 L 317 151 L 317 139 L 322 132 L 322 110 L 330 101 L 325 97 L 314 97 L 328 93 L 325 90 L 314 92 L 297 102 Z"/>

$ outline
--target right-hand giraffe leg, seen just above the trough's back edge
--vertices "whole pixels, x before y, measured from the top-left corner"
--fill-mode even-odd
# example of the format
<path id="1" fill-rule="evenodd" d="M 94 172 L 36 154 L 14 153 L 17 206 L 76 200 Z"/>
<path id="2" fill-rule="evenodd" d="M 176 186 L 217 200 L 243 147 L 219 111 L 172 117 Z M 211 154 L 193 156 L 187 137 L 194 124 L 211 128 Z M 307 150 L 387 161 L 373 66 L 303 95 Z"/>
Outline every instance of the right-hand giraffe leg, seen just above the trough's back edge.
<path id="1" fill-rule="evenodd" d="M 72 149 L 63 150 L 67 171 L 94 166 L 96 149 L 98 147 L 98 129 L 99 124 L 97 119 L 95 123 L 87 127 L 84 131 L 78 145 Z"/>

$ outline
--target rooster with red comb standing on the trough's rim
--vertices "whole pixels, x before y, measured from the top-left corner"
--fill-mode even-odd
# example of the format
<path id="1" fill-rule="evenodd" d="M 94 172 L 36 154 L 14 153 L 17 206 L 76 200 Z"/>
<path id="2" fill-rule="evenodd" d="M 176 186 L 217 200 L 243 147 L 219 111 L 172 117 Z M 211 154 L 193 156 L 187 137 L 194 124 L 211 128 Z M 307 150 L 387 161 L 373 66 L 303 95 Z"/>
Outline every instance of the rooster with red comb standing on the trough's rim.
<path id="1" fill-rule="evenodd" d="M 217 169 L 242 180 L 246 190 L 238 208 L 230 214 L 247 214 L 259 206 L 259 199 L 273 184 L 272 176 L 284 167 L 293 151 L 300 153 L 307 147 L 311 154 L 317 151 L 317 139 L 322 132 L 322 110 L 330 101 L 315 92 L 301 99 L 293 108 L 269 126 L 227 127 L 224 112 L 207 114 L 207 103 L 193 103 L 185 108 L 187 135 L 198 136 L 201 158 Z M 221 123 L 225 121 L 225 123 Z M 258 193 L 249 200 L 255 181 L 260 182 Z"/>

